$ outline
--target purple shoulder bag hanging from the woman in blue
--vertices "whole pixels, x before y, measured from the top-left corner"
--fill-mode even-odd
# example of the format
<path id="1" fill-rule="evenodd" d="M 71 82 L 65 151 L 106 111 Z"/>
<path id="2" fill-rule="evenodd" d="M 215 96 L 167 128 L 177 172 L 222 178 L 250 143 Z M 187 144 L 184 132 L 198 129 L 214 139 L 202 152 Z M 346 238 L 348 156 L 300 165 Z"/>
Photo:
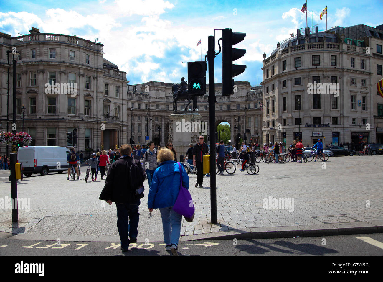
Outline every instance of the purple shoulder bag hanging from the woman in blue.
<path id="1" fill-rule="evenodd" d="M 181 167 L 181 164 L 179 162 L 177 163 L 178 167 L 180 168 L 181 188 L 178 192 L 177 200 L 175 200 L 173 210 L 176 213 L 185 216 L 186 221 L 192 222 L 194 218 L 193 199 L 191 198 L 190 192 L 182 186 L 182 170 L 185 168 Z"/>

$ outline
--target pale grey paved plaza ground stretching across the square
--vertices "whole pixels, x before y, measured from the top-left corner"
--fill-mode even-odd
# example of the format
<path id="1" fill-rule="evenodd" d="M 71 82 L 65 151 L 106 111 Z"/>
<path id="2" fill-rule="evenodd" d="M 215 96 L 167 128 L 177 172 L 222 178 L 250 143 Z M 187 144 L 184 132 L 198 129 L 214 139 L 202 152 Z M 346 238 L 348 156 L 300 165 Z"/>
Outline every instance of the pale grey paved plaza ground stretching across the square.
<path id="1" fill-rule="evenodd" d="M 315 226 L 383 219 L 383 156 L 331 157 L 326 163 L 258 163 L 257 175 L 239 172 L 217 175 L 217 224 L 210 221 L 210 178 L 195 188 L 192 223 L 183 220 L 181 235 L 244 228 Z M 84 173 L 82 174 L 84 177 Z M 103 181 L 66 180 L 66 174 L 24 178 L 18 197 L 30 198 L 30 211 L 19 209 L 19 223 L 11 223 L 11 209 L 0 209 L 0 231 L 25 236 L 118 239 L 115 204 L 98 200 Z M 148 187 L 147 180 L 144 185 Z M 145 191 L 147 196 L 148 190 Z M 0 198 L 10 198 L 10 183 L 0 184 Z M 290 207 L 265 208 L 269 198 L 290 199 Z M 265 201 L 264 201 L 265 200 Z M 286 202 L 287 203 L 287 202 Z M 369 203 L 369 206 L 368 206 Z M 148 218 L 147 197 L 141 199 L 139 241 L 162 241 L 158 209 Z M 37 236 L 37 237 L 36 237 Z M 25 237 L 27 238 L 27 237 Z M 107 240 L 106 240 L 107 241 Z"/>

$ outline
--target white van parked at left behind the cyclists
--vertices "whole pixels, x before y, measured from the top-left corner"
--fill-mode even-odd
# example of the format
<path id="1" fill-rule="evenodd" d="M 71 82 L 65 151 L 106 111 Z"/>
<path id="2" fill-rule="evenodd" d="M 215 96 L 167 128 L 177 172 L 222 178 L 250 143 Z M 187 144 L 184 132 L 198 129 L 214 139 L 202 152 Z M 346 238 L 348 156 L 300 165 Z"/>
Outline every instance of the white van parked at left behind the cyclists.
<path id="1" fill-rule="evenodd" d="M 68 170 L 68 148 L 54 146 L 24 146 L 17 152 L 17 162 L 23 163 L 23 174 L 47 175 L 48 172 L 63 173 Z M 59 163 L 58 163 L 59 162 Z"/>

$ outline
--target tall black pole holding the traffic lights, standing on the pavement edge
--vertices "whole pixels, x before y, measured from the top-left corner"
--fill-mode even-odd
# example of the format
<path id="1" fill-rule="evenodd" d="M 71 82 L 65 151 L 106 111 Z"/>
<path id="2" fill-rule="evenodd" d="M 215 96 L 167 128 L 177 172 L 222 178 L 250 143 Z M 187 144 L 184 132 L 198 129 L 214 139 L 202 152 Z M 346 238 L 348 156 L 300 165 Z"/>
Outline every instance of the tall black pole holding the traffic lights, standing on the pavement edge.
<path id="1" fill-rule="evenodd" d="M 210 123 L 210 210 L 211 223 L 217 223 L 217 186 L 215 173 L 215 90 L 214 90 L 214 36 L 208 37 L 209 62 L 209 123 Z"/>

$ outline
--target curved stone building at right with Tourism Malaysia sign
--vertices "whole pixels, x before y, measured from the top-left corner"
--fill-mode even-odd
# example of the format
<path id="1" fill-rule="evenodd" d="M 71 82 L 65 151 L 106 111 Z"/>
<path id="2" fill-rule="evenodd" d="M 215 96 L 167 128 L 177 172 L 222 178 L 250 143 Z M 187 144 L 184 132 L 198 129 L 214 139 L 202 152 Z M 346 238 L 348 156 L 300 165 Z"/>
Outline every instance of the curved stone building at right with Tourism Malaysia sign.
<path id="1" fill-rule="evenodd" d="M 351 29 L 346 28 L 347 29 Z M 263 61 L 263 138 L 266 142 L 302 139 L 312 145 L 361 141 L 380 142 L 382 98 L 376 82 L 382 78 L 383 31 L 365 25 L 347 33 L 297 30 Z M 304 33 L 301 34 L 301 31 Z M 375 50 L 375 51 L 374 51 Z M 381 51 L 381 49 L 380 49 Z M 380 66 L 380 67 L 379 67 Z M 378 70 L 378 71 L 377 71 Z"/>

